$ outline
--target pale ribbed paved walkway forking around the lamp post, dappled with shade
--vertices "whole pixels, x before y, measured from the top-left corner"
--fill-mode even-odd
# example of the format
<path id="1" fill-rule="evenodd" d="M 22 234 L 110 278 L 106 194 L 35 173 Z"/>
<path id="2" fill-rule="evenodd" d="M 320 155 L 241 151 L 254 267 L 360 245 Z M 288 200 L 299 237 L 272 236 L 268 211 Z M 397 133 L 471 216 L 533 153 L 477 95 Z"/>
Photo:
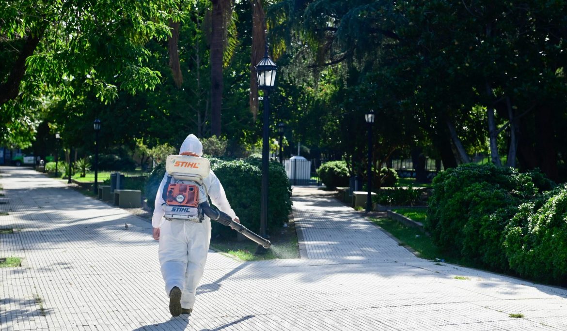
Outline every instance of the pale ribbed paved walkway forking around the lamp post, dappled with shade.
<path id="1" fill-rule="evenodd" d="M 0 227 L 16 230 L 0 256 L 25 257 L 0 268 L 1 330 L 567 330 L 567 290 L 418 259 L 298 187 L 302 259 L 211 252 L 193 314 L 171 317 L 149 222 L 32 170 L 0 175 Z"/>

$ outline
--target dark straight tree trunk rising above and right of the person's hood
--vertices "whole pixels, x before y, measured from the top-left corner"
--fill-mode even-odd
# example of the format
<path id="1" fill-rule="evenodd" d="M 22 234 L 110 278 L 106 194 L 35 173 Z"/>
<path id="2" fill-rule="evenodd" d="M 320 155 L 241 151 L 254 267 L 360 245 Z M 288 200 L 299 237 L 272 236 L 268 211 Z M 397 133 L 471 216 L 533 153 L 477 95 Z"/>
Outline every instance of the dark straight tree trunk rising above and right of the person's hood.
<path id="1" fill-rule="evenodd" d="M 221 136 L 222 108 L 222 59 L 225 51 L 225 6 L 230 6 L 230 0 L 212 0 L 211 15 L 211 135 Z"/>

